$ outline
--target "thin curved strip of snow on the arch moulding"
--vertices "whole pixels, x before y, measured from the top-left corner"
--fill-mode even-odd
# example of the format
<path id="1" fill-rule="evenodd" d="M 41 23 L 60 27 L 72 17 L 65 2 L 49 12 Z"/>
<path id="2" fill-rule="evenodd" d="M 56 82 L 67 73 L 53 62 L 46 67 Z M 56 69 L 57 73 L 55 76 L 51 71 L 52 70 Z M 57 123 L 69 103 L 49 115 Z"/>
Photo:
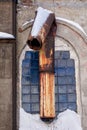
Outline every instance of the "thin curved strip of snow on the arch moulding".
<path id="1" fill-rule="evenodd" d="M 83 30 L 83 28 L 78 23 L 71 21 L 71 20 L 68 20 L 68 19 L 60 18 L 60 17 L 56 17 L 56 20 L 61 20 L 61 21 L 67 22 L 67 23 L 75 26 L 76 28 L 78 28 L 80 31 L 82 31 L 87 36 L 87 34 Z"/>

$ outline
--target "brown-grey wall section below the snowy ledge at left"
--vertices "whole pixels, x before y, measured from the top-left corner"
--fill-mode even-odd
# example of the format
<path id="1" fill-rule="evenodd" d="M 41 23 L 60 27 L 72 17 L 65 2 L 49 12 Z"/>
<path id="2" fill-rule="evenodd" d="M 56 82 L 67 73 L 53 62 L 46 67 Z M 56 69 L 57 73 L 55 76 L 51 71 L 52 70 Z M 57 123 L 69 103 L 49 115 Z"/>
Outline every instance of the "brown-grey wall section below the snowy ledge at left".
<path id="1" fill-rule="evenodd" d="M 11 39 L 0 39 L 0 130 L 12 130 L 14 122 L 13 42 Z"/>

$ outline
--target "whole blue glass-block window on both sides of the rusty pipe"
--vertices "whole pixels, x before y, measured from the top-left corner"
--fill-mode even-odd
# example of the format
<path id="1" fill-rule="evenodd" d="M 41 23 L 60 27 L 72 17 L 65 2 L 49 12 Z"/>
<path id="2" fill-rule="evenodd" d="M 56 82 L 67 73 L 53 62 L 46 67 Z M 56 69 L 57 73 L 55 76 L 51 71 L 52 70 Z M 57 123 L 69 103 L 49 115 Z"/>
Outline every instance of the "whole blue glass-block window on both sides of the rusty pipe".
<path id="1" fill-rule="evenodd" d="M 22 107 L 28 113 L 39 113 L 39 53 L 26 51 L 22 61 Z M 76 111 L 75 63 L 69 51 L 55 51 L 55 109 Z"/>

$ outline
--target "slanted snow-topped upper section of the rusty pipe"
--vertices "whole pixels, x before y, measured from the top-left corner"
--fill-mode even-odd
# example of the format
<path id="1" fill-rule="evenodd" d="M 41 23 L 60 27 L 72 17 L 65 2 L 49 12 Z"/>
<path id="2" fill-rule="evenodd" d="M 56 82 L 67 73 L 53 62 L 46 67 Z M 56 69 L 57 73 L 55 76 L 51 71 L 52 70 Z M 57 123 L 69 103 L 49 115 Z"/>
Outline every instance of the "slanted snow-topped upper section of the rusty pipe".
<path id="1" fill-rule="evenodd" d="M 54 13 L 39 7 L 37 9 L 31 33 L 27 40 L 27 44 L 31 49 L 40 50 L 42 48 L 42 44 L 45 42 L 53 24 L 56 25 Z M 54 29 L 54 32 L 55 31 L 56 30 Z"/>

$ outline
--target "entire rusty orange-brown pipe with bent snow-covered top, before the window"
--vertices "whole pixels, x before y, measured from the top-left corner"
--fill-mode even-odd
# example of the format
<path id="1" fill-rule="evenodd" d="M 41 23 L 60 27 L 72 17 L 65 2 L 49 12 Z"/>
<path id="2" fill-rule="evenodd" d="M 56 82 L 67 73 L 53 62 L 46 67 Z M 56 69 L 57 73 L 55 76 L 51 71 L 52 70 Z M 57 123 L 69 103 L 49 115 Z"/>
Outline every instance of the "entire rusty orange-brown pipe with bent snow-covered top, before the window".
<path id="1" fill-rule="evenodd" d="M 56 33 L 55 15 L 43 8 L 40 11 L 48 13 L 46 20 L 34 36 L 32 32 L 36 27 L 38 14 L 37 12 L 31 34 L 27 40 L 27 44 L 33 50 L 39 50 L 39 71 L 40 71 L 40 117 L 55 117 L 55 83 L 54 83 L 54 37 Z M 47 12 L 46 12 L 47 11 Z M 43 16 L 42 16 L 43 17 Z M 41 17 L 40 17 L 41 18 Z"/>

